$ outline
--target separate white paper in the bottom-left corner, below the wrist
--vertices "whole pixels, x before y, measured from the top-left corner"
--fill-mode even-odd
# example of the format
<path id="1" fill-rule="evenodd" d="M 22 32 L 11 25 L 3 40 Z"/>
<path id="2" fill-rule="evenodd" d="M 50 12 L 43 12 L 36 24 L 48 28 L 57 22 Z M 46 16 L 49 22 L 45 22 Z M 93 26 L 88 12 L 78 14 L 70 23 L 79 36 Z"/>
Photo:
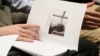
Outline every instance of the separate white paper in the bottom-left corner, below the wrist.
<path id="1" fill-rule="evenodd" d="M 18 35 L 0 36 L 0 56 L 7 56 Z"/>

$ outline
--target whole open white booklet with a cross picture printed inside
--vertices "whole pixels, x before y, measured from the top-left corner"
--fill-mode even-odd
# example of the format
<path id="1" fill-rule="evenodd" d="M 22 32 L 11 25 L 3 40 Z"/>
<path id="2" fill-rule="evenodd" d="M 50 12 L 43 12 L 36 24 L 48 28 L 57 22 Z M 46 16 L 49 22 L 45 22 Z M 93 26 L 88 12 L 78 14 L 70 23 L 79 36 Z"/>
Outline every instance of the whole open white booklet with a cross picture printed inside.
<path id="1" fill-rule="evenodd" d="M 39 40 L 16 42 L 14 46 L 40 56 L 56 56 L 68 49 L 78 50 L 86 4 L 57 0 L 35 0 L 28 24 L 40 25 Z"/>

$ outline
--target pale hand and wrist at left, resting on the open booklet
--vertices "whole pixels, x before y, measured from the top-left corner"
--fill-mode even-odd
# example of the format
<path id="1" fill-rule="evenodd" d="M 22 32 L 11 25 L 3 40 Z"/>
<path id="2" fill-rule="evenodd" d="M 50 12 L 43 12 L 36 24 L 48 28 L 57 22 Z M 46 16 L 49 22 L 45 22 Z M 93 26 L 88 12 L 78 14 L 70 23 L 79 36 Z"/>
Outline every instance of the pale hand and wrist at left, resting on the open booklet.
<path id="1" fill-rule="evenodd" d="M 5 26 L 0 28 L 0 35 L 19 34 L 17 41 L 33 42 L 39 37 L 39 33 L 31 31 L 29 28 L 37 28 L 39 30 L 40 26 L 33 24 Z"/>

